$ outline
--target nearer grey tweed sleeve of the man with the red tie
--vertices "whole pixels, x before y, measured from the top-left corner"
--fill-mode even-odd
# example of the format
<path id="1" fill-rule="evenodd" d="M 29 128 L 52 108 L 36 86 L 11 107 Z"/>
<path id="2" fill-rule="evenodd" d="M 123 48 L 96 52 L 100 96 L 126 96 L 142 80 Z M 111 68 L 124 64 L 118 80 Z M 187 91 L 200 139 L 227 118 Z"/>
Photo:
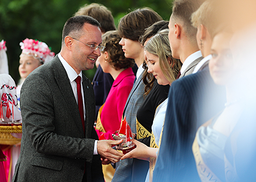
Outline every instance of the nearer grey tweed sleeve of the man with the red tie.
<path id="1" fill-rule="evenodd" d="M 57 104 L 54 96 L 52 87 L 39 74 L 25 80 L 21 91 L 21 112 L 27 138 L 38 153 L 92 162 L 95 140 L 76 135 L 77 126 L 70 118 L 56 119 L 57 113 L 64 115 L 65 110 Z"/>

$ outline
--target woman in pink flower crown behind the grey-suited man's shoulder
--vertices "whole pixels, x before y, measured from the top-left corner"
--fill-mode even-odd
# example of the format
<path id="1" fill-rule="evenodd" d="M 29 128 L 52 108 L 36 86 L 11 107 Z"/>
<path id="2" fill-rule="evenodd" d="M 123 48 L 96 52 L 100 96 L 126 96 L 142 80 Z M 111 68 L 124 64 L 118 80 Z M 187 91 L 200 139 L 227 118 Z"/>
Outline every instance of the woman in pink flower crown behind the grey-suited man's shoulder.
<path id="1" fill-rule="evenodd" d="M 20 42 L 22 49 L 20 55 L 19 72 L 21 76 L 21 84 L 17 86 L 17 97 L 20 102 L 20 90 L 23 81 L 27 78 L 35 68 L 51 61 L 54 57 L 54 52 L 44 42 L 33 39 L 25 39 Z"/>

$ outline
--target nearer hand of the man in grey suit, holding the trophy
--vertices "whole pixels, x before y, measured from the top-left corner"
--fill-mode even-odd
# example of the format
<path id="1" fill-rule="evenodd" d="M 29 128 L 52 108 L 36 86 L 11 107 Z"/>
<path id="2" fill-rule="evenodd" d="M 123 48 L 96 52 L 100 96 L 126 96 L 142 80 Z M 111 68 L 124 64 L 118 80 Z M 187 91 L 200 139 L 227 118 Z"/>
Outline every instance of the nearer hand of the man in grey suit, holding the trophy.
<path id="1" fill-rule="evenodd" d="M 113 149 L 112 145 L 119 145 L 122 141 L 123 140 L 99 140 L 97 141 L 97 152 L 99 155 L 103 156 L 111 162 L 118 162 L 121 156 L 124 154 Z"/>

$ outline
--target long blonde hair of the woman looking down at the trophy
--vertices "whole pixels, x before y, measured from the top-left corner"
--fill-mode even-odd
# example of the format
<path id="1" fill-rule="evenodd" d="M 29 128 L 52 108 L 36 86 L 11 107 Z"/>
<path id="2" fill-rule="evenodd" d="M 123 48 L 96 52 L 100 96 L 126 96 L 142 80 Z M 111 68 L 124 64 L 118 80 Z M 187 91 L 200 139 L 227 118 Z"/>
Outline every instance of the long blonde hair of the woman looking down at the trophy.
<path id="1" fill-rule="evenodd" d="M 172 57 L 168 40 L 169 29 L 161 30 L 154 35 L 145 46 L 145 50 L 159 57 L 159 64 L 164 77 L 172 83 L 180 71 L 181 62 Z M 170 64 L 169 64 L 170 61 Z"/>

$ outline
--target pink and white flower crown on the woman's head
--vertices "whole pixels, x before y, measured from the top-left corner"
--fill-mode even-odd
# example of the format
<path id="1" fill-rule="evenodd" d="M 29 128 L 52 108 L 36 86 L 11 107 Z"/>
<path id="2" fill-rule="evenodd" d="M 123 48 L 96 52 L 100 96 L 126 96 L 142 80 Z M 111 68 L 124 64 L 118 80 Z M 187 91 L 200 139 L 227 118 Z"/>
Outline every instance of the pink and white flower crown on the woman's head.
<path id="1" fill-rule="evenodd" d="M 22 49 L 22 55 L 29 55 L 35 59 L 38 59 L 42 64 L 53 59 L 55 53 L 51 52 L 51 49 L 47 46 L 45 42 L 41 42 L 33 39 L 25 39 L 20 42 Z"/>

